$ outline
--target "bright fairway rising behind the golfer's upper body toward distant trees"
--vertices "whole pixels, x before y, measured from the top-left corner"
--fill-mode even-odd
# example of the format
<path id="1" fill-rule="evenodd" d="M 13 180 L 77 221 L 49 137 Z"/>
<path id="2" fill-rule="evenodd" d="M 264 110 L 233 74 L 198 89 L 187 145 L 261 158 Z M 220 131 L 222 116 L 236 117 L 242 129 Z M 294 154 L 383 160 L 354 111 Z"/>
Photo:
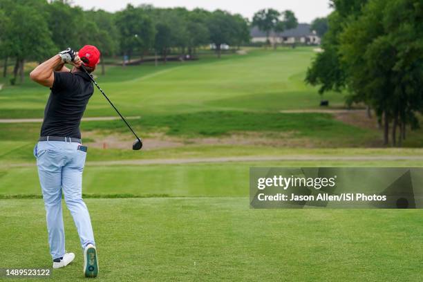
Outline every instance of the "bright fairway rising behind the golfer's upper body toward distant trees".
<path id="1" fill-rule="evenodd" d="M 98 81 L 125 115 L 317 108 L 316 88 L 303 83 L 313 56 L 310 48 L 252 50 L 248 55 L 171 62 L 157 68 L 150 63 L 114 66 Z M 0 92 L 0 117 L 41 118 L 47 97 L 47 88 L 26 77 L 23 85 L 7 86 Z M 343 104 L 337 93 L 327 98 L 334 106 Z M 115 113 L 96 91 L 86 116 L 102 115 Z"/>

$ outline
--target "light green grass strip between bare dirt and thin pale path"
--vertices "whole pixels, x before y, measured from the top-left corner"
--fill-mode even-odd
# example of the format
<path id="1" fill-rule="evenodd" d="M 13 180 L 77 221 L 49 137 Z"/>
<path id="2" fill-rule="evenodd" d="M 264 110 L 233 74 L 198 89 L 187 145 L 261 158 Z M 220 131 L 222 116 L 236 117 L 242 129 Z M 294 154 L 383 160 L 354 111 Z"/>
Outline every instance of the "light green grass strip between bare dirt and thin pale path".
<path id="1" fill-rule="evenodd" d="M 0 141 L 0 167 L 21 162 L 34 162 L 32 150 L 37 142 L 34 136 L 28 141 Z M 151 160 L 216 158 L 224 156 L 423 156 L 423 149 L 411 148 L 303 148 L 303 147 L 266 147 L 259 145 L 197 145 L 183 147 L 132 151 L 128 149 L 88 149 L 87 161 L 102 160 Z"/>

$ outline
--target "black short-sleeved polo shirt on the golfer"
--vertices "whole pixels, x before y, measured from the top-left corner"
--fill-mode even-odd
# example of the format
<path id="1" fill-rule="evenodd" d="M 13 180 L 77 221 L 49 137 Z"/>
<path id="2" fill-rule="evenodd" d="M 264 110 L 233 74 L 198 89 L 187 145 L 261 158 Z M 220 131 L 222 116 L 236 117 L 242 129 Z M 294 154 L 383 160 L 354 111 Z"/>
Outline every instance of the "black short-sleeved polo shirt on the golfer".
<path id="1" fill-rule="evenodd" d="M 41 136 L 81 138 L 79 124 L 93 95 L 90 77 L 82 71 L 54 73 L 55 82 L 50 88 Z"/>

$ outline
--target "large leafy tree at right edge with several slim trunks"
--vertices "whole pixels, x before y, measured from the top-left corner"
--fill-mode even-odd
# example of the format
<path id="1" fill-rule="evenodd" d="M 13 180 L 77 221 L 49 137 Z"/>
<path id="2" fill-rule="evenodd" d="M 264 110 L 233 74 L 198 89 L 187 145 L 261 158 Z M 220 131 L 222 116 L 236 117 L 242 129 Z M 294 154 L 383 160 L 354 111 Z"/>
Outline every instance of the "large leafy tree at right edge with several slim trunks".
<path id="1" fill-rule="evenodd" d="M 423 111 L 423 23 L 418 0 L 373 0 L 341 34 L 351 96 L 384 118 L 384 144 L 392 122 L 392 144 L 405 125 L 418 126 Z M 366 74 L 366 75 L 364 75 Z"/>

